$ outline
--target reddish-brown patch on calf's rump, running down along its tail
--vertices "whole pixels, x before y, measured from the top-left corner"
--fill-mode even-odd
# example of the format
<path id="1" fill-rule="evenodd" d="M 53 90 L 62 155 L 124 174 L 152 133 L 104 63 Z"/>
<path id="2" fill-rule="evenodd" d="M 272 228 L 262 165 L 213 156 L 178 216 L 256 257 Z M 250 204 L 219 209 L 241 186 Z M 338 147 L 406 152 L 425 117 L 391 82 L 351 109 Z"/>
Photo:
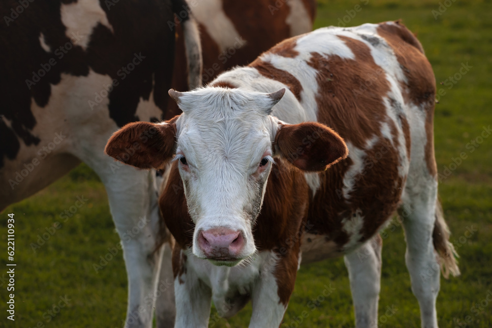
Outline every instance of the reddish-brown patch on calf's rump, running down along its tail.
<path id="1" fill-rule="evenodd" d="M 377 33 L 393 48 L 397 60 L 408 82 L 402 83 L 405 103 L 423 107 L 426 113 L 425 160 L 432 177 L 437 179 L 437 166 L 434 157 L 434 100 L 435 77 L 429 60 L 424 55 L 422 45 L 417 38 L 400 22 L 398 25 L 381 23 Z"/>

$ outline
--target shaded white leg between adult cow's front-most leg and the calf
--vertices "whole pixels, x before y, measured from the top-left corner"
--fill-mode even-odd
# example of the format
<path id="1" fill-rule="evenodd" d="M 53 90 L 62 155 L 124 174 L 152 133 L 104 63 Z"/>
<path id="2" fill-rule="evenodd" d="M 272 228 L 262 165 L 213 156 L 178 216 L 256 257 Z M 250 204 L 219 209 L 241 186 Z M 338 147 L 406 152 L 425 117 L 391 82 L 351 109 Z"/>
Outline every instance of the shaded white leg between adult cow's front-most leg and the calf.
<path id="1" fill-rule="evenodd" d="M 176 318 L 174 277 L 171 265 L 172 248 L 169 243 L 165 243 L 162 247 L 162 263 L 155 300 L 155 317 L 157 328 L 170 328 L 174 327 Z"/>

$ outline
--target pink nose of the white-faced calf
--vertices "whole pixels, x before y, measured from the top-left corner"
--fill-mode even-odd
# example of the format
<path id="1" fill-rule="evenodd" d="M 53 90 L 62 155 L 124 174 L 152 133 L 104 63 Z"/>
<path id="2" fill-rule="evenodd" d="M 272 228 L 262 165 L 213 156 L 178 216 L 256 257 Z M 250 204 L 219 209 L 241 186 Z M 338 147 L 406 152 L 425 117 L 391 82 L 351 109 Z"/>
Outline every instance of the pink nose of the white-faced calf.
<path id="1" fill-rule="evenodd" d="M 243 250 L 243 234 L 225 228 L 214 228 L 198 234 L 198 246 L 208 258 L 233 259 Z"/>

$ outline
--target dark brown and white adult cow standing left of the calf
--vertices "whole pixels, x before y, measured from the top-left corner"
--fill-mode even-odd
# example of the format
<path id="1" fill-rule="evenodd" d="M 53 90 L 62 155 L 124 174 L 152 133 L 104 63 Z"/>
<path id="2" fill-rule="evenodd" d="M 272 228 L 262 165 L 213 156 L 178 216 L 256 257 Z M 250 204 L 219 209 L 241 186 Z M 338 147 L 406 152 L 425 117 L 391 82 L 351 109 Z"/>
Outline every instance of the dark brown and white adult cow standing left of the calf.
<path id="1" fill-rule="evenodd" d="M 124 124 L 163 117 L 174 12 L 185 11 L 190 85 L 201 84 L 200 39 L 186 8 L 184 0 L 0 4 L 0 210 L 87 163 L 106 187 L 120 236 L 138 227 L 123 240 L 129 326 L 152 324 L 162 257 L 154 252 L 155 173 L 117 166 L 103 149 Z"/>

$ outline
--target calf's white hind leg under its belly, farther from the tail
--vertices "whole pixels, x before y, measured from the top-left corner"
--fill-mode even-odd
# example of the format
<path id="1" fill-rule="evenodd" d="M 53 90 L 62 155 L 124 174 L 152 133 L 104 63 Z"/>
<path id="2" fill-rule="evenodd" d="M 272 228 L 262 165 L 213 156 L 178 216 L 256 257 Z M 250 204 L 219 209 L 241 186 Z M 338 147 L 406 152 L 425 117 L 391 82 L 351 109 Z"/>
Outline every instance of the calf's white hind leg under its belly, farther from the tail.
<path id="1" fill-rule="evenodd" d="M 382 244 L 381 237 L 376 235 L 344 257 L 358 328 L 377 327 Z"/>

